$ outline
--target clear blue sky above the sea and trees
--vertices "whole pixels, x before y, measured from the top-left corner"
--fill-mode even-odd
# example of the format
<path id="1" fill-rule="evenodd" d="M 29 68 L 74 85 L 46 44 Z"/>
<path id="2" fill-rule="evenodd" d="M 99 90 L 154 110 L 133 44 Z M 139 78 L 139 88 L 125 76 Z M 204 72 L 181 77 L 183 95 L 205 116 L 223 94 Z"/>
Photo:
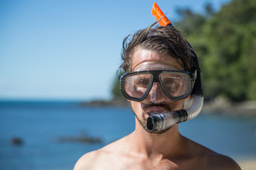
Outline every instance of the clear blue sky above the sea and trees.
<path id="1" fill-rule="evenodd" d="M 230 0 L 156 1 L 202 13 Z M 123 38 L 153 23 L 154 1 L 0 0 L 0 99 L 111 98 Z"/>

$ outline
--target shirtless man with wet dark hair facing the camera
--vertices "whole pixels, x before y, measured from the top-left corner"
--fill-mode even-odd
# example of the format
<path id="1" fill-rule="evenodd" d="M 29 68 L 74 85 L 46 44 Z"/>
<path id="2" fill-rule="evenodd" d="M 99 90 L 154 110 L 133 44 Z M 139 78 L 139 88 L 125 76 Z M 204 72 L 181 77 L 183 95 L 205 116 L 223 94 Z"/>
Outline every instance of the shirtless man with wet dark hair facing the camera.
<path id="1" fill-rule="evenodd" d="M 85 154 L 78 160 L 75 170 L 240 169 L 230 157 L 183 137 L 178 132 L 178 124 L 159 131 L 147 129 L 146 120 L 151 113 L 181 110 L 184 101 L 190 97 L 187 92 L 191 89 L 184 85 L 190 84 L 190 79 L 182 77 L 195 67 L 193 53 L 183 35 L 172 26 L 152 25 L 134 33 L 132 40 L 128 37 L 123 42 L 121 67 L 126 73 L 136 73 L 122 78 L 122 84 L 125 84 L 122 91 L 131 101 L 136 117 L 135 130 L 102 149 Z M 162 74 L 159 70 L 166 72 Z M 149 71 L 162 79 L 161 84 L 145 78 L 151 77 L 147 74 Z M 151 89 L 146 91 L 150 84 Z"/>

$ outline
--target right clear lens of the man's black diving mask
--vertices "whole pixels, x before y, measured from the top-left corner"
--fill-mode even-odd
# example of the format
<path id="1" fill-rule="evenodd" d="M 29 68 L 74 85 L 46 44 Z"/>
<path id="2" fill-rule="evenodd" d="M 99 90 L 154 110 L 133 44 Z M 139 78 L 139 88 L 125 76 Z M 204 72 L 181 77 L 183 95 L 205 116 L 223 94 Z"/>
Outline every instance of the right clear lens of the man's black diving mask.
<path id="1" fill-rule="evenodd" d="M 167 95 L 174 99 L 188 96 L 191 89 L 190 77 L 181 72 L 163 72 L 160 74 L 160 82 Z"/>

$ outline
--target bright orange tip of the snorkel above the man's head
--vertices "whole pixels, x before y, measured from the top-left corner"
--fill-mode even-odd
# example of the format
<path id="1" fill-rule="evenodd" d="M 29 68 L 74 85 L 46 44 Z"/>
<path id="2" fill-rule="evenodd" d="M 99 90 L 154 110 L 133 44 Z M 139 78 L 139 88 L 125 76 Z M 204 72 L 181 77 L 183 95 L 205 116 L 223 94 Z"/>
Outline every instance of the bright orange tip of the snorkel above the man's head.
<path id="1" fill-rule="evenodd" d="M 164 13 L 161 11 L 159 6 L 154 2 L 153 8 L 151 11 L 152 15 L 156 17 L 156 20 L 159 20 L 160 26 L 167 26 L 168 24 L 171 24 L 169 19 L 164 15 Z"/>

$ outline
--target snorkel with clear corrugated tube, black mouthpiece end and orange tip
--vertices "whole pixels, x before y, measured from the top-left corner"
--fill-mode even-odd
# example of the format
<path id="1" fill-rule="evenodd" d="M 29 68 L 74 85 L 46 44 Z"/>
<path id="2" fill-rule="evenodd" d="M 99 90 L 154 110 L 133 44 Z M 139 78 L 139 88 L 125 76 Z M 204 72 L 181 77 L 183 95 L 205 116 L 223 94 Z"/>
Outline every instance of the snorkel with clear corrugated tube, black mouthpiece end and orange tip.
<path id="1" fill-rule="evenodd" d="M 153 16 L 159 22 L 160 26 L 173 26 L 168 18 L 161 11 L 159 6 L 154 2 L 152 12 Z M 188 43 L 188 45 L 190 45 Z M 191 45 L 190 45 L 191 47 Z M 196 81 L 191 91 L 191 105 L 188 108 L 178 111 L 164 112 L 164 113 L 151 113 L 146 120 L 146 128 L 149 132 L 156 132 L 159 130 L 165 130 L 170 128 L 176 123 L 182 123 L 187 120 L 195 118 L 203 108 L 203 89 L 201 84 L 201 70 L 198 63 L 198 57 L 196 52 L 191 47 L 191 53 L 193 55 L 193 62 L 196 67 L 193 67 L 192 71 L 196 72 Z"/>

